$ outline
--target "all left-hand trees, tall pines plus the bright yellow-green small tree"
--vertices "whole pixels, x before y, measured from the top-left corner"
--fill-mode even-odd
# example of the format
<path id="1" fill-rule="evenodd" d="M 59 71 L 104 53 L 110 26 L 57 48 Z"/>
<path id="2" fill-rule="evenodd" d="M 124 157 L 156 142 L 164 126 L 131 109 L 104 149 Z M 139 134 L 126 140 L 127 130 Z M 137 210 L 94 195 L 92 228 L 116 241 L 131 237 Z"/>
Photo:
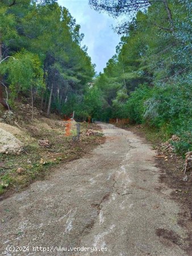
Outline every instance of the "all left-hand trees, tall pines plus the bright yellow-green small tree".
<path id="1" fill-rule="evenodd" d="M 94 76 L 86 47 L 80 46 L 83 36 L 54 0 L 1 0 L 1 104 L 9 109 L 31 102 L 48 115 L 51 110 L 70 115 L 84 102 Z M 78 116 L 86 118 L 87 108 L 79 108 Z"/>

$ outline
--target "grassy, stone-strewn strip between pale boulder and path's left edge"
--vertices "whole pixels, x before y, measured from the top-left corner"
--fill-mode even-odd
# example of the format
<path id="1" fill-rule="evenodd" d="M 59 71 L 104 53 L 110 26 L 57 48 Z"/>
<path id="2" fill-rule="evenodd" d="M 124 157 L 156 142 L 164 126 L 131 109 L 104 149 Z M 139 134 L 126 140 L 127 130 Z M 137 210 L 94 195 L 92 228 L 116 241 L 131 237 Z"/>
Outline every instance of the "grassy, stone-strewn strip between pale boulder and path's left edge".
<path id="1" fill-rule="evenodd" d="M 50 120 L 49 120 L 50 121 Z M 91 125 L 94 128 L 94 124 Z M 0 154 L 0 194 L 12 189 L 20 191 L 32 181 L 42 179 L 53 167 L 70 160 L 80 158 L 91 148 L 101 144 L 104 138 L 98 136 L 80 136 L 80 140 L 74 140 L 76 131 L 65 137 L 64 128 L 38 129 L 29 127 L 31 140 L 27 139 L 27 145 L 20 155 Z M 87 123 L 81 124 L 81 131 L 86 131 Z M 51 146 L 49 148 L 39 146 L 38 140 L 47 138 Z M 18 173 L 18 168 L 22 168 Z"/>

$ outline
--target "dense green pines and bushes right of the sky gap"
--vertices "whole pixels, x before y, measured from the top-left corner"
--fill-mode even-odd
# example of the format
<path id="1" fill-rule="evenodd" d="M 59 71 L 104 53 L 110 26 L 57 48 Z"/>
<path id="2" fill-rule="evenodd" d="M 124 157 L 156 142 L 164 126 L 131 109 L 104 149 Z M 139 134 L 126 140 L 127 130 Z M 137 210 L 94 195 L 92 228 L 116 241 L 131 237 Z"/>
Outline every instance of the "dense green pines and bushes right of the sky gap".
<path id="1" fill-rule="evenodd" d="M 100 117 L 129 118 L 168 137 L 177 134 L 176 148 L 186 152 L 192 129 L 191 1 L 151 1 L 146 8 L 147 2 L 90 1 L 114 16 L 137 12 L 116 28 L 123 33 L 116 55 L 95 81 L 105 106 Z"/>

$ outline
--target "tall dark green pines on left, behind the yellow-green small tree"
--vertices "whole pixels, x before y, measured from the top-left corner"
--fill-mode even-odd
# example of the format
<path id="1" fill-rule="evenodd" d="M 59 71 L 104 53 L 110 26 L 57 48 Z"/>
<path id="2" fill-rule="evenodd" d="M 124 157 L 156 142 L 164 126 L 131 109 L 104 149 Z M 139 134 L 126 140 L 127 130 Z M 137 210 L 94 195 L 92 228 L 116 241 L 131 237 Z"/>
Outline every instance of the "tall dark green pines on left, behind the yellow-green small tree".
<path id="1" fill-rule="evenodd" d="M 80 26 L 69 11 L 54 0 L 1 2 L 0 49 L 5 65 L 0 73 L 3 86 L 11 91 L 12 100 L 15 100 L 15 92 L 21 96 L 22 90 L 15 90 L 22 88 L 20 83 L 10 80 L 12 71 L 8 68 L 11 67 L 8 56 L 13 63 L 12 57 L 18 56 L 16 53 L 22 54 L 23 49 L 28 52 L 28 56 L 31 56 L 30 53 L 38 55 L 46 87 L 41 86 L 41 92 L 38 89 L 35 98 L 39 100 L 41 94 L 41 108 L 47 105 L 44 98 L 49 98 L 47 113 L 51 110 L 60 113 L 66 98 L 73 93 L 82 97 L 87 82 L 94 76 L 94 66 L 86 48 L 81 47 L 84 35 L 80 33 Z M 7 107 L 3 101 L 3 86 L 0 86 L 0 98 Z M 35 88 L 32 91 L 36 92 Z"/>

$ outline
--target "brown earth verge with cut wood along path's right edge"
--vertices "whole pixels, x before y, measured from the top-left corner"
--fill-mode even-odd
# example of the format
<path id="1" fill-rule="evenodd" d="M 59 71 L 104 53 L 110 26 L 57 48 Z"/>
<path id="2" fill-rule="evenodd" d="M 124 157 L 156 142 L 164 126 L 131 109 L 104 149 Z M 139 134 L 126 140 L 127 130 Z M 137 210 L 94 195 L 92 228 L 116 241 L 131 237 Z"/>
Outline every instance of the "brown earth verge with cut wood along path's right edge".
<path id="1" fill-rule="evenodd" d="M 145 139 L 145 129 L 138 129 L 136 126 L 130 126 L 126 130 L 131 130 L 132 133 L 139 135 Z M 145 142 L 147 140 L 145 139 Z M 161 139 L 155 139 L 153 145 L 158 147 Z M 185 160 L 181 156 L 174 155 L 174 158 L 165 159 L 156 158 L 156 166 L 160 169 L 160 183 L 166 184 L 172 189 L 171 197 L 181 205 L 182 212 L 179 214 L 178 224 L 185 226 L 188 230 L 189 247 L 187 253 L 192 255 L 192 174 L 187 173 L 188 180 L 183 181 L 183 164 Z"/>

